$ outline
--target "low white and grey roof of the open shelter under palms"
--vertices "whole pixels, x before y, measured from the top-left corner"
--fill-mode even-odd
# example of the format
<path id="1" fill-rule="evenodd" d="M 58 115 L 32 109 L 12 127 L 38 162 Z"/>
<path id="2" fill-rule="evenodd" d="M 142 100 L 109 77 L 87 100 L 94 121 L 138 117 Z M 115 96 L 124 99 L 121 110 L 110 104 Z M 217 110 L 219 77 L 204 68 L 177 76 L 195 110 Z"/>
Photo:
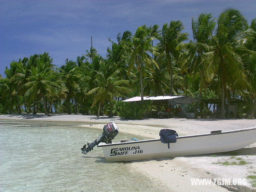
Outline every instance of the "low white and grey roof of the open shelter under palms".
<path id="1" fill-rule="evenodd" d="M 153 104 L 168 104 L 169 101 L 172 102 L 173 104 L 195 103 L 197 101 L 192 97 L 182 96 L 182 95 L 144 96 L 143 100 L 153 100 Z M 123 102 L 139 102 L 139 101 L 141 101 L 141 96 L 136 96 L 133 98 L 123 100 Z"/>

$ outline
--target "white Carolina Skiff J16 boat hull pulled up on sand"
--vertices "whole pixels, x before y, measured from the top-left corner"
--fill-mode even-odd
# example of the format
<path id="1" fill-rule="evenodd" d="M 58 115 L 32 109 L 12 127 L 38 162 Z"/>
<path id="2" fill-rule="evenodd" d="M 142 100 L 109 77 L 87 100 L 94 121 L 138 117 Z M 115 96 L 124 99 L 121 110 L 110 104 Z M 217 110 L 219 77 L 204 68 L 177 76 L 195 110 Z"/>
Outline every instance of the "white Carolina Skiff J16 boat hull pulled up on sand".
<path id="1" fill-rule="evenodd" d="M 178 136 L 175 143 L 170 143 L 170 148 L 160 139 L 111 144 L 100 142 L 98 147 L 102 148 L 108 161 L 131 161 L 228 152 L 244 148 L 254 142 L 256 142 L 256 127 Z"/>

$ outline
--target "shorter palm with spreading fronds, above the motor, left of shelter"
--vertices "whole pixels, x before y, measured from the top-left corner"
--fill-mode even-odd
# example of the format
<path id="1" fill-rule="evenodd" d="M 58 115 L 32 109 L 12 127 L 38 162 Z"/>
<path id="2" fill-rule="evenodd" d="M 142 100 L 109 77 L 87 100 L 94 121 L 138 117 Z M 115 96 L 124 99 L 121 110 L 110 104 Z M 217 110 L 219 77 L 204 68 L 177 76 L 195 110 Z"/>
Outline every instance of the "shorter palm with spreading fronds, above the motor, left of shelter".
<path id="1" fill-rule="evenodd" d="M 118 70 L 113 70 L 113 63 L 105 60 L 100 62 L 100 70 L 96 71 L 95 82 L 96 88 L 93 88 L 88 92 L 88 95 L 94 94 L 94 100 L 92 105 L 94 106 L 97 102 L 104 103 L 109 102 L 110 114 L 109 117 L 113 116 L 112 100 L 118 94 L 128 93 L 129 84 L 128 80 L 118 80 L 116 74 Z M 99 105 L 100 106 L 100 105 Z M 100 109 L 100 107 L 99 107 Z M 100 110 L 98 110 L 97 116 L 99 116 Z"/>

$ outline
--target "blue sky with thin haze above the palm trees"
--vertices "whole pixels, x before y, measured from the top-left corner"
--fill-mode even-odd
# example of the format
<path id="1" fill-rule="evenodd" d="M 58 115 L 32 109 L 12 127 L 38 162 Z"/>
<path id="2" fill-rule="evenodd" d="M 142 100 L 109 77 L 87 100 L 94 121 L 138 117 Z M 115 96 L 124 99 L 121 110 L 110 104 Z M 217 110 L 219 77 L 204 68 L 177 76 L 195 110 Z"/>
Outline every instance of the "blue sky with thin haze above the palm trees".
<path id="1" fill-rule="evenodd" d="M 0 0 L 0 74 L 12 60 L 48 52 L 57 66 L 93 47 L 103 57 L 108 38 L 119 32 L 133 34 L 138 28 L 157 24 L 162 28 L 171 20 L 181 20 L 190 34 L 192 17 L 225 8 L 240 10 L 250 21 L 256 18 L 254 0 Z"/>

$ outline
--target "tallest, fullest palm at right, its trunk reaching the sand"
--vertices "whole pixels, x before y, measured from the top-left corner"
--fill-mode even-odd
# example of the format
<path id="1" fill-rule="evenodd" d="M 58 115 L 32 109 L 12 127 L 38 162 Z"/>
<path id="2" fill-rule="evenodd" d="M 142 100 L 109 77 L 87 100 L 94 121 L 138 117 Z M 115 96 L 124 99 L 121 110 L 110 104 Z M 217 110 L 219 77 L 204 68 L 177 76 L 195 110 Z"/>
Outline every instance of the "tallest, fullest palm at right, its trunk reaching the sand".
<path id="1" fill-rule="evenodd" d="M 214 74 L 218 74 L 218 80 L 222 87 L 221 118 L 225 118 L 225 92 L 227 84 L 244 84 L 246 78 L 244 65 L 240 55 L 247 50 L 244 48 L 248 36 L 252 30 L 247 28 L 247 22 L 238 10 L 226 9 L 217 20 L 216 35 L 212 38 L 212 48 L 206 53 L 208 66 L 207 78 L 210 80 Z"/>

